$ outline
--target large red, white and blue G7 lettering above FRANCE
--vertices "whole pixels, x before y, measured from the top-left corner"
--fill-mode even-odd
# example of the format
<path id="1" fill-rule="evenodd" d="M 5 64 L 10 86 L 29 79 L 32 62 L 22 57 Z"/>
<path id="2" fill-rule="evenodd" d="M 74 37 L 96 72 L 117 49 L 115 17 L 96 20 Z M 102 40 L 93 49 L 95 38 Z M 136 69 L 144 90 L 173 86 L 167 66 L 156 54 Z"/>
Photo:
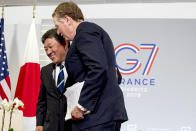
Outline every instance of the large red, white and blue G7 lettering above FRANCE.
<path id="1" fill-rule="evenodd" d="M 142 75 L 149 75 L 150 69 L 157 55 L 159 47 L 157 47 L 156 44 L 140 44 L 140 49 L 141 50 L 152 50 L 148 58 L 148 61 L 145 65 L 144 71 L 142 73 Z M 120 44 L 115 48 L 116 59 L 117 59 L 118 54 L 123 50 L 130 50 L 133 53 L 137 54 L 140 51 L 140 49 L 137 46 L 130 44 L 130 43 Z M 125 68 L 120 67 L 118 63 L 116 63 L 116 66 L 119 68 L 121 74 L 123 75 L 130 75 L 130 74 L 137 72 L 142 65 L 138 59 L 126 59 L 126 64 L 133 65 L 133 66 L 128 69 L 125 69 Z"/>

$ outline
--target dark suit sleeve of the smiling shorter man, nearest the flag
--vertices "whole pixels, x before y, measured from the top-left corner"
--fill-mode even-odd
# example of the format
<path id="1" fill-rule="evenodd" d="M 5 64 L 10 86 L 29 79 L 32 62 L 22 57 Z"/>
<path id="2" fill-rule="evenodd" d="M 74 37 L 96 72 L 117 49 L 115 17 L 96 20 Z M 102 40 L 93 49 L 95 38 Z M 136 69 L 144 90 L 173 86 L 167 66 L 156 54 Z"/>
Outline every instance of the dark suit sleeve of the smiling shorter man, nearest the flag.
<path id="1" fill-rule="evenodd" d="M 43 84 L 43 70 L 41 70 L 41 86 L 36 105 L 36 126 L 43 126 L 46 115 L 46 88 Z"/>

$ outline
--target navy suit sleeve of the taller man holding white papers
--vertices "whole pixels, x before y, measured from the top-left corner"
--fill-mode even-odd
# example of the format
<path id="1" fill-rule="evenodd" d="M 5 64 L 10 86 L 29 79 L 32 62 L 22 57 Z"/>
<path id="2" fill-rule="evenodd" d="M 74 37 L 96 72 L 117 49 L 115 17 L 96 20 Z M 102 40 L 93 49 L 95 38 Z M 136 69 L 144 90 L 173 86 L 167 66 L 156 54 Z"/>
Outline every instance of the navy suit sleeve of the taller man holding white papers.
<path id="1" fill-rule="evenodd" d="M 102 40 L 96 32 L 81 32 L 76 43 L 81 60 L 87 70 L 78 103 L 93 111 L 106 84 L 107 58 Z"/>

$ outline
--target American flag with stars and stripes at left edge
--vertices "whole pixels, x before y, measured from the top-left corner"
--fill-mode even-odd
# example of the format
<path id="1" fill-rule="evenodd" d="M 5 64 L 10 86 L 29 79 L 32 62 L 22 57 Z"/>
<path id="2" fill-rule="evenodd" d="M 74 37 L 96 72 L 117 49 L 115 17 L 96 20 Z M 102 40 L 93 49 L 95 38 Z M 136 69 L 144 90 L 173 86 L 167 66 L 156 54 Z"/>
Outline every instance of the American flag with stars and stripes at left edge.
<path id="1" fill-rule="evenodd" d="M 11 84 L 7 65 L 7 55 L 4 39 L 4 19 L 0 23 L 0 101 L 11 99 Z"/>

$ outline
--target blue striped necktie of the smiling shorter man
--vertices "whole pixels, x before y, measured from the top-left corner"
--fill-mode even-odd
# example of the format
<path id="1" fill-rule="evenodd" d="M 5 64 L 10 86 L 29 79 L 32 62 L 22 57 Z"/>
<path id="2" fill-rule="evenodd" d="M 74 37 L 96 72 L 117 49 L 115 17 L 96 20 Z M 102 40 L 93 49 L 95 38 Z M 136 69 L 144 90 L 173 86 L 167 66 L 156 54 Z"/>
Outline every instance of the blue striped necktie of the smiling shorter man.
<path id="1" fill-rule="evenodd" d="M 63 68 L 64 68 L 64 65 L 61 64 L 60 65 L 60 72 L 59 72 L 58 79 L 57 79 L 57 89 L 60 92 L 63 91 L 63 87 L 65 84 Z"/>

